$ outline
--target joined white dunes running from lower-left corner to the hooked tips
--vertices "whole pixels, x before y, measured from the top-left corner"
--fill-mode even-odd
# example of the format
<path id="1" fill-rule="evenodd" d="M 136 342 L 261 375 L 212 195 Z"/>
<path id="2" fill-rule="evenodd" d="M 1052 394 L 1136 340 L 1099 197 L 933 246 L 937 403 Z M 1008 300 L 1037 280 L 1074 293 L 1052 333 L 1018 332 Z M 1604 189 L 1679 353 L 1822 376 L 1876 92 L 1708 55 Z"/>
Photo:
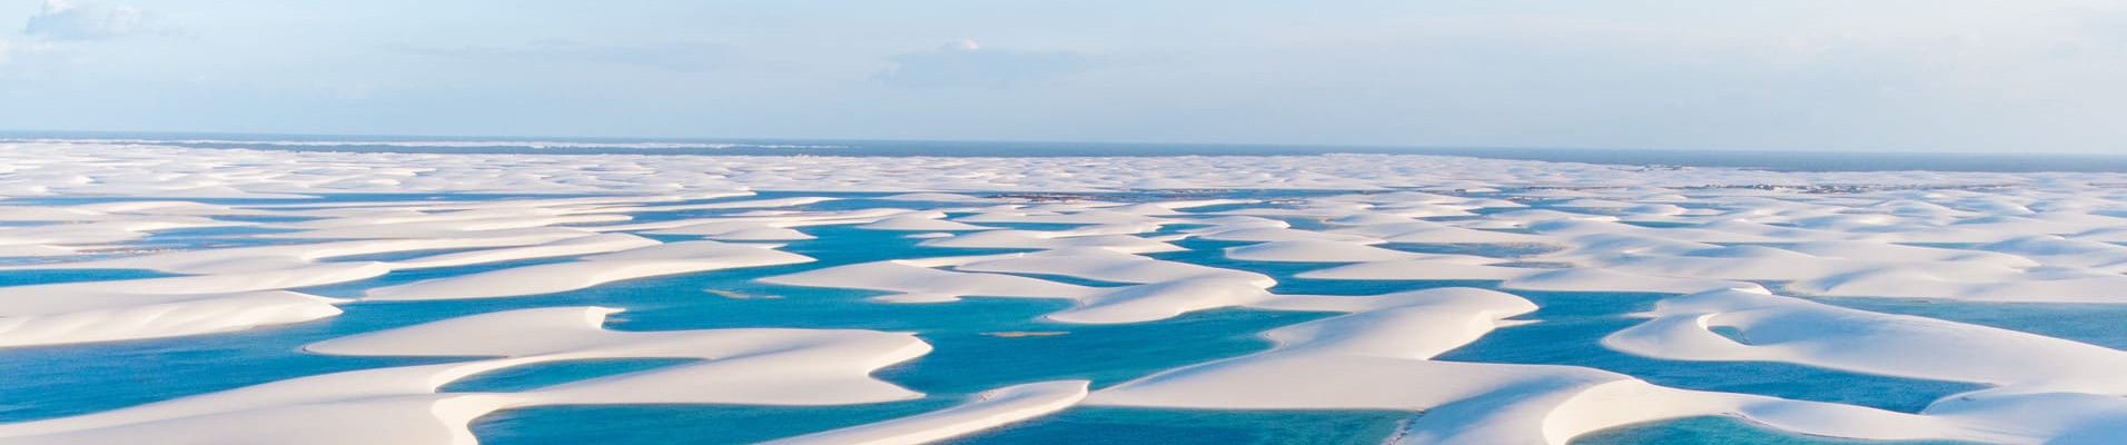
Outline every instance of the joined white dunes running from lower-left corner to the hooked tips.
<path id="1" fill-rule="evenodd" d="M 0 424 L 0 443 L 285 443 L 472 445 L 466 424 L 517 407 L 623 402 L 855 405 L 919 396 L 870 379 L 929 351 L 910 334 L 870 330 L 613 332 L 615 309 L 485 313 L 311 345 L 345 356 L 500 356 L 347 370 L 185 396 L 74 417 Z M 585 358 L 702 362 L 513 394 L 438 394 L 479 373 Z"/>

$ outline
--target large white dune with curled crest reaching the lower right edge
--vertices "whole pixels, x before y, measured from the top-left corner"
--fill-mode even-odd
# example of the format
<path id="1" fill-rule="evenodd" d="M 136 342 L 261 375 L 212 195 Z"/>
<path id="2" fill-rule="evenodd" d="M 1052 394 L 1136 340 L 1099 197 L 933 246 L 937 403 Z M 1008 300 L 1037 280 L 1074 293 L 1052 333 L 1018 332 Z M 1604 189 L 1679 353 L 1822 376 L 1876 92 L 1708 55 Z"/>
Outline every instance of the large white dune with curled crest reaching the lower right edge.
<path id="1" fill-rule="evenodd" d="M 2110 347 L 1759 292 L 1678 296 L 1648 317 L 1604 345 L 1668 360 L 1765 360 L 1987 383 L 1995 388 L 1936 400 L 1923 415 L 2023 436 L 2008 443 L 2104 443 L 2127 422 L 2127 400 L 2118 398 L 2127 394 L 2118 379 L 2127 351 Z"/>

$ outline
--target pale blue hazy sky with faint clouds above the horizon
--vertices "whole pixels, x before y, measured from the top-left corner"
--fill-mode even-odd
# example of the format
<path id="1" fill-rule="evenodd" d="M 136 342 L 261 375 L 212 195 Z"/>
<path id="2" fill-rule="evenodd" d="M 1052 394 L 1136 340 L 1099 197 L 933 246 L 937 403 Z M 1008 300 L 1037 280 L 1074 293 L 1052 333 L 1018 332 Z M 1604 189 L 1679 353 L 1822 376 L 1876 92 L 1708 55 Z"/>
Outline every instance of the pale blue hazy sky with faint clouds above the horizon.
<path id="1" fill-rule="evenodd" d="M 0 130 L 2127 153 L 2127 2 L 0 0 Z"/>

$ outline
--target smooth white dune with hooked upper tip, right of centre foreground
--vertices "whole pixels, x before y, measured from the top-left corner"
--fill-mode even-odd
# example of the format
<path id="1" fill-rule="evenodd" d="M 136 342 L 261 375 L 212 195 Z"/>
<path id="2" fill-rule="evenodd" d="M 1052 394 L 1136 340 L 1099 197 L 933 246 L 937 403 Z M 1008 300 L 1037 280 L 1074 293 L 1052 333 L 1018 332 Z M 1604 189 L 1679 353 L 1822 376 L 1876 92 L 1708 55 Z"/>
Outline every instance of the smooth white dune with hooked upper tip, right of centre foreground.
<path id="1" fill-rule="evenodd" d="M 1266 332 L 1272 351 L 1185 366 L 1093 392 L 1089 405 L 1200 409 L 1429 409 L 1563 366 L 1446 364 L 1427 358 L 1536 311 L 1500 292 L 1427 292 Z M 1334 377 L 1334 379 L 1332 379 Z M 1602 377 L 1589 373 L 1582 379 Z"/>

